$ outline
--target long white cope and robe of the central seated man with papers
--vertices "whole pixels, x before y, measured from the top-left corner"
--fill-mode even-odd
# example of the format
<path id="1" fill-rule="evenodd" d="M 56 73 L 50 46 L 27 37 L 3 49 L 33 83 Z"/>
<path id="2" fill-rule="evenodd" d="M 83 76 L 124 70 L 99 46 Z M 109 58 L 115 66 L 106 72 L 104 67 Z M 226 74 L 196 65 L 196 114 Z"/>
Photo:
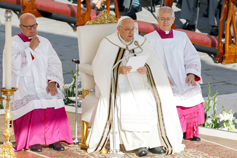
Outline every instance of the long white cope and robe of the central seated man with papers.
<path id="1" fill-rule="evenodd" d="M 137 71 L 127 75 L 119 74 L 119 66 L 126 65 L 127 59 L 113 71 L 122 142 L 126 150 L 165 146 L 168 148 L 167 154 L 180 152 L 184 149 L 181 144 L 182 130 L 165 71 L 145 38 L 135 34 L 134 41 L 138 41 L 144 50 L 137 55 L 149 53 L 146 62 L 148 72 L 144 75 Z M 92 63 L 94 80 L 101 95 L 87 139 L 88 152 L 99 152 L 105 146 L 111 131 L 113 96 L 110 92 L 113 65 L 129 53 L 139 51 L 141 50 L 133 41 L 126 46 L 118 32 L 101 41 Z"/>

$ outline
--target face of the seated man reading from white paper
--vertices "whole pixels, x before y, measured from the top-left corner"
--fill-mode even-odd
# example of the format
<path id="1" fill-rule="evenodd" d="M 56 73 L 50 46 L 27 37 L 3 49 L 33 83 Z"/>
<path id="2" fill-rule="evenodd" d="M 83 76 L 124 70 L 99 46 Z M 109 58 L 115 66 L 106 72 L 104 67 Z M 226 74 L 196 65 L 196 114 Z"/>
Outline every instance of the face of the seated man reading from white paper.
<path id="1" fill-rule="evenodd" d="M 134 37 L 134 22 L 132 19 L 125 19 L 122 21 L 121 26 L 117 30 L 124 41 L 131 42 Z"/>

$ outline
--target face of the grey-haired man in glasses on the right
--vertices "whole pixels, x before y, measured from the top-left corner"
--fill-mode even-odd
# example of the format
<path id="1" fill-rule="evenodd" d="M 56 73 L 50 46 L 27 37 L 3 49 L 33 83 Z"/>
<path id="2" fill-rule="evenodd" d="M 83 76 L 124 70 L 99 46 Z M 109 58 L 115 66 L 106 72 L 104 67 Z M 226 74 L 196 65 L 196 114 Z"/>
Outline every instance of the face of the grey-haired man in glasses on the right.
<path id="1" fill-rule="evenodd" d="M 171 11 L 161 10 L 159 17 L 157 17 L 157 22 L 159 23 L 159 26 L 163 31 L 169 31 L 174 23 L 174 19 L 175 18 L 172 17 Z"/>

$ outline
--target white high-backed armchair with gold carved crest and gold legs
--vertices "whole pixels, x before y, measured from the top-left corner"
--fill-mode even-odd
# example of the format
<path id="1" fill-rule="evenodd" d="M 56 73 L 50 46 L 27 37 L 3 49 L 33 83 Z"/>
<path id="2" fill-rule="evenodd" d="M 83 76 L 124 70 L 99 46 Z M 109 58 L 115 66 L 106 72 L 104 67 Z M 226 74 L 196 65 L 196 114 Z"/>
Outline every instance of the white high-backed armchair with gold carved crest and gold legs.
<path id="1" fill-rule="evenodd" d="M 111 19 L 111 17 L 109 19 Z M 106 23 L 107 22 L 108 21 L 106 21 Z M 96 111 L 96 107 L 98 104 L 98 98 L 95 96 L 95 92 L 89 93 L 90 90 L 94 91 L 95 89 L 95 82 L 91 64 L 96 55 L 101 40 L 107 35 L 110 35 L 117 30 L 117 23 L 98 24 L 99 20 L 96 20 L 95 23 L 96 25 L 85 25 L 77 27 L 79 59 L 80 59 L 79 71 L 81 74 L 81 87 L 83 93 L 82 94 L 83 99 L 81 104 L 82 141 L 79 144 L 79 146 L 85 149 L 88 148 L 88 145 L 86 144 L 86 139 L 88 137 L 89 123 L 90 124 L 93 123 L 94 113 Z M 138 28 L 137 23 L 135 24 L 135 27 Z"/>

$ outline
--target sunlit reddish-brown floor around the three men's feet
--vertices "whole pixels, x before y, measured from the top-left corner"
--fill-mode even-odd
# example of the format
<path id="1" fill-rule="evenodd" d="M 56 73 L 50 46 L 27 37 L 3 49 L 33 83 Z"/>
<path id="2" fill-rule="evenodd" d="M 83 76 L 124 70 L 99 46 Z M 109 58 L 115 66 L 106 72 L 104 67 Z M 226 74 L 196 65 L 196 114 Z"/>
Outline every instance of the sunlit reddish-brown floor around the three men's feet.
<path id="1" fill-rule="evenodd" d="M 69 123 L 71 126 L 71 131 L 73 137 L 75 136 L 75 114 L 67 112 Z M 4 115 L 0 115 L 0 129 L 5 126 Z M 81 138 L 81 115 L 78 115 L 78 139 Z M 146 158 L 237 158 L 237 141 L 221 139 L 216 137 L 208 137 L 205 135 L 201 135 L 202 141 L 200 142 L 192 142 L 183 140 L 183 143 L 186 145 L 186 148 L 183 152 L 174 155 L 155 155 L 152 153 L 148 153 Z M 3 137 L 2 130 L 0 131 L 0 143 L 5 141 Z M 11 140 L 15 145 L 14 137 Z M 19 151 L 16 152 L 17 158 L 42 158 L 42 157 L 50 157 L 50 158 L 104 158 L 105 155 L 102 154 L 88 154 L 86 150 L 80 149 L 78 145 L 67 145 L 62 143 L 65 146 L 65 151 L 57 152 L 52 149 L 49 149 L 48 146 L 43 146 L 43 151 L 41 153 L 35 153 L 30 150 L 28 151 Z M 109 144 L 107 144 L 107 149 L 109 149 Z M 127 152 L 130 157 L 136 158 L 138 157 L 137 151 Z M 124 156 L 127 157 L 127 156 Z"/>

